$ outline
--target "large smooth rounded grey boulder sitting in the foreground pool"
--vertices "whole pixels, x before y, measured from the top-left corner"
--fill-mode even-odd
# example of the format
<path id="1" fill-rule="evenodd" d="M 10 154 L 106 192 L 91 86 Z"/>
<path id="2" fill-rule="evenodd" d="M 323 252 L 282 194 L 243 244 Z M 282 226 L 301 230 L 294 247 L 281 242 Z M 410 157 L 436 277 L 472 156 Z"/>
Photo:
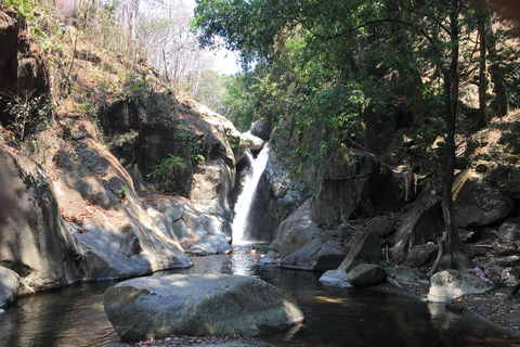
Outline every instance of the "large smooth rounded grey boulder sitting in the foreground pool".
<path id="1" fill-rule="evenodd" d="M 123 342 L 172 334 L 256 336 L 303 320 L 292 296 L 259 279 L 239 275 L 133 279 L 106 290 L 103 305 Z"/>

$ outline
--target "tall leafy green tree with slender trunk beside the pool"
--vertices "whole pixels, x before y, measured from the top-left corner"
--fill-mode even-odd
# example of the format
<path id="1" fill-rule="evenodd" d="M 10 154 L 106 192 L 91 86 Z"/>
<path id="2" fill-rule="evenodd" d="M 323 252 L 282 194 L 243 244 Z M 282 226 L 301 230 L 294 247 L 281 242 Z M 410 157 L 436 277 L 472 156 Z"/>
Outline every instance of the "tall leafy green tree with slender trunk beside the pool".
<path id="1" fill-rule="evenodd" d="M 324 147 L 348 144 L 346 138 L 352 134 L 349 129 L 355 127 L 352 115 L 360 114 L 366 101 L 369 100 L 372 106 L 385 103 L 386 93 L 380 92 L 381 88 L 391 88 L 392 81 L 374 79 L 370 73 L 374 56 L 376 63 L 380 63 L 378 66 L 399 70 L 402 90 L 406 91 L 406 87 L 413 90 L 405 95 L 416 113 L 443 115 L 445 229 L 441 244 L 444 252 L 459 249 L 452 184 L 460 42 L 469 39 L 469 33 L 461 29 L 461 18 L 469 15 L 469 1 L 198 0 L 197 3 L 194 23 L 202 29 L 203 44 L 216 44 L 219 42 L 216 37 L 223 38 L 227 48 L 243 52 L 246 63 L 264 61 L 270 66 L 271 78 L 285 68 L 270 80 L 287 91 L 285 94 L 280 91 L 277 95 L 286 105 L 285 113 L 290 114 L 290 129 L 302 125 L 321 129 L 315 119 L 324 120 L 321 115 L 327 115 L 327 128 L 322 129 Z M 294 47 L 298 38 L 304 41 L 301 49 L 292 49 L 287 55 L 287 49 Z M 378 51 L 386 56 L 378 56 Z M 280 56 L 285 57 L 283 62 L 276 60 Z M 295 61 L 300 63 L 290 65 Z M 421 80 L 420 74 L 432 68 L 440 77 Z M 428 86 L 424 86 L 425 82 Z M 428 93 L 437 82 L 442 88 Z M 285 98 L 280 99 L 280 94 Z M 421 100 L 422 95 L 427 95 L 429 106 Z M 334 108 L 340 110 L 338 116 Z M 300 139 L 306 139 L 302 134 Z M 299 159 L 309 158 L 310 152 L 299 152 L 299 149 L 294 151 L 301 153 Z"/>

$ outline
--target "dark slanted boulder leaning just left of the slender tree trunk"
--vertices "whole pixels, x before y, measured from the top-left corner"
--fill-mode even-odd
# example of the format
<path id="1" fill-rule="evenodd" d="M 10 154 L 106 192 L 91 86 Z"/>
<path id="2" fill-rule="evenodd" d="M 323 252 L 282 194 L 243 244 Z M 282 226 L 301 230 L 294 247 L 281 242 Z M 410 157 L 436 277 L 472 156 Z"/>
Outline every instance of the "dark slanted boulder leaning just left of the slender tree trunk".
<path id="1" fill-rule="evenodd" d="M 401 262 L 413 247 L 435 240 L 440 233 L 439 221 L 442 220 L 441 202 L 434 189 L 422 189 L 395 232 L 393 261 Z"/>

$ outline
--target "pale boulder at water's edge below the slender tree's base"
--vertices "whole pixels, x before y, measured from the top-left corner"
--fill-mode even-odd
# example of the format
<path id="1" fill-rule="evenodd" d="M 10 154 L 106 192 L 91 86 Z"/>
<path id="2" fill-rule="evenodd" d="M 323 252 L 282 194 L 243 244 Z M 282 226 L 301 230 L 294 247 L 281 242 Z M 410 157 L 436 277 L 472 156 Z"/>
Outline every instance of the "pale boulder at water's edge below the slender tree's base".
<path id="1" fill-rule="evenodd" d="M 437 272 L 430 281 L 428 301 L 432 303 L 445 303 L 467 294 L 484 294 L 493 287 L 478 275 L 453 269 Z"/>

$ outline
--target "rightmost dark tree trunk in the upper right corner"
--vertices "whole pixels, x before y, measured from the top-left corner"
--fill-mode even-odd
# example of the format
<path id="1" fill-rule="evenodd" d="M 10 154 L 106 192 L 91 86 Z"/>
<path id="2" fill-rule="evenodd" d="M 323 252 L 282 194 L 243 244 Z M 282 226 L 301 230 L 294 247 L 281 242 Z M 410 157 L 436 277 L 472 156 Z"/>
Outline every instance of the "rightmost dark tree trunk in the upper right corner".
<path id="1" fill-rule="evenodd" d="M 490 52 L 490 60 L 493 62 L 490 65 L 490 74 L 494 83 L 494 90 L 496 94 L 496 108 L 498 116 L 503 117 L 509 112 L 509 101 L 506 93 L 506 83 L 504 82 L 504 75 L 502 74 L 500 66 L 498 65 L 498 53 L 496 52 L 496 41 L 493 34 L 493 27 L 491 23 L 491 16 L 485 18 L 485 41 L 487 44 L 487 51 Z"/>

